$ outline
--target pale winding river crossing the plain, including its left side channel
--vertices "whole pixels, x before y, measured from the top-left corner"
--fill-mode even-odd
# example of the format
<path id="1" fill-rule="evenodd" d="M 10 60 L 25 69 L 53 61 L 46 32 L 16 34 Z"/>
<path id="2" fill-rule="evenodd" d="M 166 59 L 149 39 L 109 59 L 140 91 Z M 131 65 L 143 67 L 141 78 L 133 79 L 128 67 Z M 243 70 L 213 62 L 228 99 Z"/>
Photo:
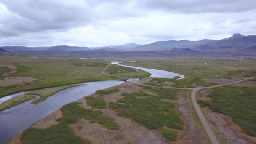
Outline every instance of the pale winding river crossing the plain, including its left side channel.
<path id="1" fill-rule="evenodd" d="M 126 66 L 119 64 L 118 62 L 112 62 L 112 64 L 118 64 L 124 67 L 132 67 L 135 69 L 144 70 L 152 74 L 150 77 L 173 78 L 179 76 L 180 78 L 184 78 L 184 75 L 164 70 Z M 80 86 L 59 91 L 58 93 L 53 94 L 52 96 L 48 97 L 45 101 L 40 102 L 39 104 L 30 104 L 31 101 L 35 100 L 32 99 L 17 106 L 1 111 L 0 144 L 6 143 L 9 139 L 18 134 L 20 131 L 25 130 L 33 123 L 46 117 L 47 115 L 51 114 L 57 109 L 60 109 L 63 105 L 73 101 L 77 101 L 78 99 L 81 99 L 84 96 L 91 95 L 99 89 L 110 88 L 115 85 L 120 85 L 121 83 L 124 83 L 124 81 L 104 80 L 96 82 L 79 83 L 81 84 Z M 13 97 L 24 95 L 25 93 L 27 92 L 20 92 L 0 98 L 0 104 Z M 36 99 L 39 98 L 39 96 L 36 97 Z"/>

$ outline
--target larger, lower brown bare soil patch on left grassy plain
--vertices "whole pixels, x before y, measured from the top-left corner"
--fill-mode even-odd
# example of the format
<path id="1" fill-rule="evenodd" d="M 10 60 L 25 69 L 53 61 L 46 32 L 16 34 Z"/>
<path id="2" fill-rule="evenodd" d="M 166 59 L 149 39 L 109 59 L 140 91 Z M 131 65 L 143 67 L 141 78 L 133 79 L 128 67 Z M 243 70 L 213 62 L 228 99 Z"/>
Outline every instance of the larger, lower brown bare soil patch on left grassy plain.
<path id="1" fill-rule="evenodd" d="M 0 80 L 0 86 L 25 85 L 35 80 L 37 79 L 33 77 L 5 77 L 4 80 Z"/>

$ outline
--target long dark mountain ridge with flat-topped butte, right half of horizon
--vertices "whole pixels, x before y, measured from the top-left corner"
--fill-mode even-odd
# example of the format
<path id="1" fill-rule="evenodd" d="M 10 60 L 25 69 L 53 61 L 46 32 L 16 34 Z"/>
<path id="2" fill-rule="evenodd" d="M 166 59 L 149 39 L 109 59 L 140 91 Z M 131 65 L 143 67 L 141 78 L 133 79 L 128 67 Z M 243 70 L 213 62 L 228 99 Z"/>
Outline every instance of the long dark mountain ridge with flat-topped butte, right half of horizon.
<path id="1" fill-rule="evenodd" d="M 256 45 L 256 35 L 234 34 L 232 37 L 222 40 L 168 40 L 156 41 L 154 43 L 139 45 L 131 51 L 168 51 L 172 48 L 190 48 L 195 51 L 213 51 L 213 52 L 235 52 L 235 51 L 253 51 Z"/>

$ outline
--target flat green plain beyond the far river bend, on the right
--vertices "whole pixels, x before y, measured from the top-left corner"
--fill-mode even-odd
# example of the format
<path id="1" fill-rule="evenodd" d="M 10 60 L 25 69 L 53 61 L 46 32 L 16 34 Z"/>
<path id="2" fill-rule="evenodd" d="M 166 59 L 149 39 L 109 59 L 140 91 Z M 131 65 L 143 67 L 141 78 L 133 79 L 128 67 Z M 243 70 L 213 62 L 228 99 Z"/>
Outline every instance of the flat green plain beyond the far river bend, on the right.
<path id="1" fill-rule="evenodd" d="M 223 59 L 138 59 L 137 62 L 124 63 L 149 69 L 163 69 L 185 75 L 186 79 L 230 77 L 245 73 L 256 75 L 256 60 Z M 205 63 L 208 64 L 205 64 Z M 246 74 L 248 72 L 249 74 Z"/>

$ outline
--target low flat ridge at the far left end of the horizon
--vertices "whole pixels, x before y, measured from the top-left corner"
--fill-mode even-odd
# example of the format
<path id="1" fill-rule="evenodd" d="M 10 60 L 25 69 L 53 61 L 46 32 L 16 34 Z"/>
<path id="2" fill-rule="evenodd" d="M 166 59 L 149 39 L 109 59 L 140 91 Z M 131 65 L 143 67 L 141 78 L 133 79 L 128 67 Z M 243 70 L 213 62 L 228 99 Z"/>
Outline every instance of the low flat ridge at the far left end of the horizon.
<path id="1" fill-rule="evenodd" d="M 7 51 L 46 51 L 49 47 L 2 46 Z"/>

